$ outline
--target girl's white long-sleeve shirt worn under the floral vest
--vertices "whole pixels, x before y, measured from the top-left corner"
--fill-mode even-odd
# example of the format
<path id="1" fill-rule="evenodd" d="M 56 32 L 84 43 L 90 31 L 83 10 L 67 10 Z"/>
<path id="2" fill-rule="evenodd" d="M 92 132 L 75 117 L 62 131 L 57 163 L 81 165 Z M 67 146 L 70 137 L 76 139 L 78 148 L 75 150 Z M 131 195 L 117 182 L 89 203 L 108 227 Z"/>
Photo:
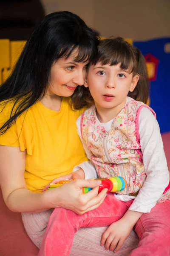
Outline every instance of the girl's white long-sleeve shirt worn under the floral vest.
<path id="1" fill-rule="evenodd" d="M 82 168 L 85 172 L 85 179 L 97 178 L 96 169 L 90 160 L 90 151 L 82 140 L 80 121 L 81 116 L 77 119 L 77 131 L 89 161 L 85 161 L 79 164 L 79 166 L 74 167 L 73 172 Z M 106 130 L 110 130 L 112 122 L 113 119 L 107 123 L 102 123 L 102 126 L 104 126 Z M 136 197 L 116 194 L 115 196 L 121 201 L 134 199 L 133 204 L 131 204 L 129 208 L 132 211 L 150 212 L 169 183 L 169 172 L 159 124 L 148 108 L 142 108 L 140 112 L 139 135 L 141 151 L 143 154 L 142 158 L 147 175 L 146 180 Z"/>

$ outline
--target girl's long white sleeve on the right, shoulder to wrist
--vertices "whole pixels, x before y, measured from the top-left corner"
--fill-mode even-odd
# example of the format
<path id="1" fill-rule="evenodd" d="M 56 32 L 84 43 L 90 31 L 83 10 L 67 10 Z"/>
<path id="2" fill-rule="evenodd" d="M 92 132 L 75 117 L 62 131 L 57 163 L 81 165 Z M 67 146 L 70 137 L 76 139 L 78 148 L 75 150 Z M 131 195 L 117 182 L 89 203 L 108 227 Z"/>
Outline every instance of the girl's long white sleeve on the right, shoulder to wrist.
<path id="1" fill-rule="evenodd" d="M 139 134 L 147 178 L 129 209 L 150 212 L 169 183 L 169 172 L 159 125 L 148 108 L 141 110 Z"/>

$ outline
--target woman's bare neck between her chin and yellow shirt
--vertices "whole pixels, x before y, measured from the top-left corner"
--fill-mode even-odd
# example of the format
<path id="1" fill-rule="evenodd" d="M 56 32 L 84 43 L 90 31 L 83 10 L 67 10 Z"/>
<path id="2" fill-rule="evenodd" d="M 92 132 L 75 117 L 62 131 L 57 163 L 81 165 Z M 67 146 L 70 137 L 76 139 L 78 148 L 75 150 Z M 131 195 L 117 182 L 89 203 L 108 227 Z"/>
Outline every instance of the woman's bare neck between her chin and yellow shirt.
<path id="1" fill-rule="evenodd" d="M 62 97 L 55 94 L 46 93 L 40 102 L 46 107 L 53 111 L 60 111 Z"/>

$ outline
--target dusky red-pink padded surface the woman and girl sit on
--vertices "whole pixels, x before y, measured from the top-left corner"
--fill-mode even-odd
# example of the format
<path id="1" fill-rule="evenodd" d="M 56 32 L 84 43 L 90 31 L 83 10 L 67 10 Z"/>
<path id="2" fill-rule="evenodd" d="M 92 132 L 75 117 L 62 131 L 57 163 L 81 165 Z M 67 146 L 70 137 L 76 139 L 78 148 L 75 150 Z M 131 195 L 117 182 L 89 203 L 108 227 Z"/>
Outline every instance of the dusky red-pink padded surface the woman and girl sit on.
<path id="1" fill-rule="evenodd" d="M 170 169 L 170 132 L 162 134 L 162 140 Z M 0 256 L 35 256 L 37 253 L 37 247 L 24 230 L 20 213 L 6 207 L 0 190 Z"/>

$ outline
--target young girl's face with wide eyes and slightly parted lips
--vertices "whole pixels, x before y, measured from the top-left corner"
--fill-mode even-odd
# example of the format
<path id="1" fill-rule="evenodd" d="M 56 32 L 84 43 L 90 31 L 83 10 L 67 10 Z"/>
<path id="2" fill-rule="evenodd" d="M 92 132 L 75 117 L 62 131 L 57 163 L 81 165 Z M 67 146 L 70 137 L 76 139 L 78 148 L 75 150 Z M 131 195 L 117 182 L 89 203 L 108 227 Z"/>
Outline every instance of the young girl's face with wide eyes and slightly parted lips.
<path id="1" fill-rule="evenodd" d="M 120 64 L 90 65 L 85 87 L 89 87 L 96 108 L 118 107 L 121 111 L 128 92 L 134 90 L 139 80 L 139 76 L 133 76 L 133 73 L 129 72 L 129 70 L 121 70 Z"/>

